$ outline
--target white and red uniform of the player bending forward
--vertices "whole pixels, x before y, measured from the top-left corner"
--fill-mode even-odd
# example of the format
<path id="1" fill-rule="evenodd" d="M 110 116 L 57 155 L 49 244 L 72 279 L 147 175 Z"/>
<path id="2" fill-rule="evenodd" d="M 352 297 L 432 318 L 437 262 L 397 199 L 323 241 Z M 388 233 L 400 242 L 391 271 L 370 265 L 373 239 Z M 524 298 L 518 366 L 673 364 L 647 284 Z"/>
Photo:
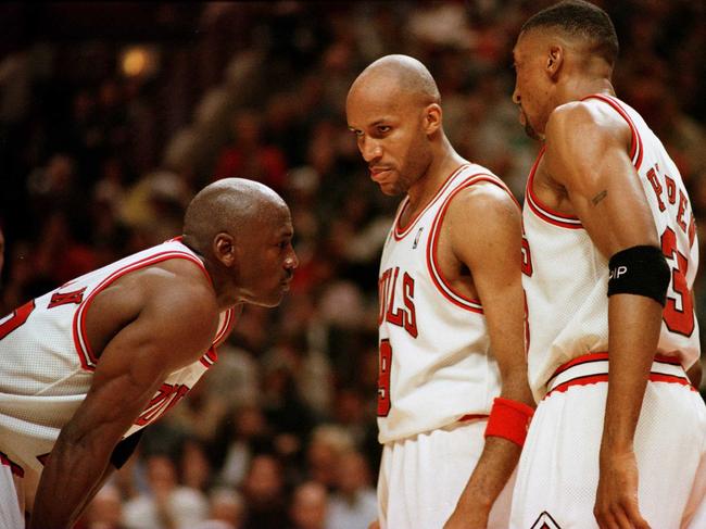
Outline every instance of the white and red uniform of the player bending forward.
<path id="1" fill-rule="evenodd" d="M 0 528 L 17 500 L 34 495 L 43 461 L 62 427 L 86 398 L 98 360 L 86 339 L 91 301 L 123 275 L 171 259 L 186 259 L 207 276 L 201 260 L 175 239 L 86 274 L 41 295 L 0 319 Z M 213 347 L 199 362 L 164 381 L 124 438 L 174 406 L 216 361 L 215 344 L 225 338 L 232 310 L 222 313 Z M 67 477 L 68 479 L 68 477 Z M 22 508 L 22 507 L 21 507 Z M 17 513 L 18 514 L 18 513 Z"/>

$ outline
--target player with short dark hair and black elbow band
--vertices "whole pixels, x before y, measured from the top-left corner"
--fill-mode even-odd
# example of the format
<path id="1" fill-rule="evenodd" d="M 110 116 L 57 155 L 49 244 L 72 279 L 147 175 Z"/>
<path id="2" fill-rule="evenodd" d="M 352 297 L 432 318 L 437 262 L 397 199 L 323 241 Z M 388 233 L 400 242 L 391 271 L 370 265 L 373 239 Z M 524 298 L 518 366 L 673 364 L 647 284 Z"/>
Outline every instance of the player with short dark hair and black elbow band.
<path id="1" fill-rule="evenodd" d="M 542 148 L 522 278 L 539 404 L 512 527 L 706 527 L 706 407 L 684 373 L 699 358 L 684 184 L 615 96 L 618 40 L 603 10 L 547 8 L 513 53 L 513 100 Z"/>

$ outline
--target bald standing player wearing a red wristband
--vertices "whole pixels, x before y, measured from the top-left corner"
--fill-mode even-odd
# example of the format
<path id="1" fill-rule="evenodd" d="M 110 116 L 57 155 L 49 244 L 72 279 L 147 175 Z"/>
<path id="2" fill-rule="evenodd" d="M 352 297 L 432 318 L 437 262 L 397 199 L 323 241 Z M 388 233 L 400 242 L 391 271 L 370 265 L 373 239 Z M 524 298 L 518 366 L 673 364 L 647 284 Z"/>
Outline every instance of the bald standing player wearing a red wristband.
<path id="1" fill-rule="evenodd" d="M 533 406 L 519 206 L 454 151 L 440 103 L 404 55 L 370 64 L 346 100 L 370 179 L 403 197 L 379 275 L 383 529 L 507 527 L 501 491 Z"/>

